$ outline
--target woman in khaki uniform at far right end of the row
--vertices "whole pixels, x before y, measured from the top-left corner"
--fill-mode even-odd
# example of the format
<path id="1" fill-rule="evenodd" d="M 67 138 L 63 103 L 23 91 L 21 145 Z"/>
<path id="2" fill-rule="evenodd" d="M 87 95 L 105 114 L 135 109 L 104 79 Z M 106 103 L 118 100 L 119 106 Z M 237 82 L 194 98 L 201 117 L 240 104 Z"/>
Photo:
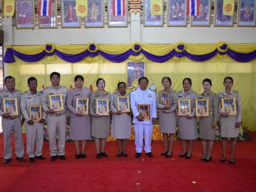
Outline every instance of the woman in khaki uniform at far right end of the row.
<path id="1" fill-rule="evenodd" d="M 225 77 L 223 84 L 225 85 L 225 90 L 219 93 L 219 100 L 221 103 L 221 98 L 235 97 L 236 99 L 236 108 L 237 115 L 229 115 L 228 112 L 222 110 L 220 113 L 220 136 L 222 144 L 222 158 L 220 162 L 226 161 L 226 148 L 227 148 L 227 139 L 230 138 L 231 141 L 231 155 L 230 155 L 230 164 L 235 163 L 235 150 L 236 150 L 236 138 L 238 137 L 239 127 L 242 122 L 242 103 L 238 91 L 232 90 L 233 85 L 232 77 Z M 221 108 L 222 109 L 222 106 Z"/>

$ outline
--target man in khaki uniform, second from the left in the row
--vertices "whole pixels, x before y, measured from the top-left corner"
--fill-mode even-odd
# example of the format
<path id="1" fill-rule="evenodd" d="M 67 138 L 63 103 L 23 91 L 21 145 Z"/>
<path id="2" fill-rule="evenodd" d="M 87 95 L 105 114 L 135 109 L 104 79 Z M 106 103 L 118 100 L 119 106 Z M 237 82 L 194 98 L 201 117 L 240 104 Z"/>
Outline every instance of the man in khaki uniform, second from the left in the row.
<path id="1" fill-rule="evenodd" d="M 42 155 L 43 141 L 44 141 L 44 121 L 46 119 L 45 111 L 40 111 L 42 118 L 39 122 L 34 122 L 29 117 L 29 106 L 42 105 L 42 92 L 37 92 L 37 79 L 35 77 L 28 78 L 29 91 L 21 95 L 20 109 L 23 117 L 26 119 L 25 131 L 27 137 L 27 154 L 29 162 L 33 163 L 34 158 L 45 159 Z M 36 112 L 35 112 L 36 114 Z M 39 114 L 37 116 L 40 116 Z M 36 141 L 36 151 L 34 153 L 34 146 Z"/>

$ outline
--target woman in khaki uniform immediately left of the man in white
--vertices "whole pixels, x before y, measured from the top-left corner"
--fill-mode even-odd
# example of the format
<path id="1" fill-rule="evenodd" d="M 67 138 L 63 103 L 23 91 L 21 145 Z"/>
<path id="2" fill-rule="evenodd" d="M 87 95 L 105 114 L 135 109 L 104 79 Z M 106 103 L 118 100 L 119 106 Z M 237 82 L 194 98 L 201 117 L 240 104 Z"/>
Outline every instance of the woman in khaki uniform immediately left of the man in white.
<path id="1" fill-rule="evenodd" d="M 122 113 L 122 110 L 118 110 L 117 97 L 128 96 L 129 93 L 126 93 L 126 84 L 124 82 L 119 82 L 117 84 L 118 91 L 111 95 L 110 108 L 113 113 L 111 121 L 111 137 L 116 138 L 118 153 L 117 157 L 128 157 L 126 153 L 126 143 L 127 139 L 131 137 L 131 127 L 132 119 L 130 113 Z M 130 99 L 130 98 L 129 98 Z M 119 102 L 123 110 L 127 110 L 130 106 L 126 106 L 125 102 Z"/>

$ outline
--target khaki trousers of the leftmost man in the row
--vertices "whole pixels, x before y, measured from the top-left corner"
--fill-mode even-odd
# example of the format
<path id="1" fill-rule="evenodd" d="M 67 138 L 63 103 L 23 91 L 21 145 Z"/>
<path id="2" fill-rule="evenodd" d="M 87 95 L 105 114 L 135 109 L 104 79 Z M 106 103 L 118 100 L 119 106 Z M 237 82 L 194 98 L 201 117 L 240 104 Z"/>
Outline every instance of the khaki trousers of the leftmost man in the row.
<path id="1" fill-rule="evenodd" d="M 12 158 L 12 132 L 14 133 L 15 155 L 16 157 L 23 157 L 24 146 L 20 117 L 17 117 L 15 119 L 2 118 L 2 127 L 4 136 L 4 159 Z"/>

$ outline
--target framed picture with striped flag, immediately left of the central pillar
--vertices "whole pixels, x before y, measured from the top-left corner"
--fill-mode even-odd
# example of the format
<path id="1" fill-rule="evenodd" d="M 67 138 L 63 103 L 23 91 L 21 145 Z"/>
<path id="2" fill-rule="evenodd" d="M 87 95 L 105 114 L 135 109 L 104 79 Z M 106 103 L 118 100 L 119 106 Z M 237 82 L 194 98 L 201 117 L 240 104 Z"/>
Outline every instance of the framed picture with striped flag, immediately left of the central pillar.
<path id="1" fill-rule="evenodd" d="M 108 0 L 108 27 L 127 27 L 127 0 Z"/>

